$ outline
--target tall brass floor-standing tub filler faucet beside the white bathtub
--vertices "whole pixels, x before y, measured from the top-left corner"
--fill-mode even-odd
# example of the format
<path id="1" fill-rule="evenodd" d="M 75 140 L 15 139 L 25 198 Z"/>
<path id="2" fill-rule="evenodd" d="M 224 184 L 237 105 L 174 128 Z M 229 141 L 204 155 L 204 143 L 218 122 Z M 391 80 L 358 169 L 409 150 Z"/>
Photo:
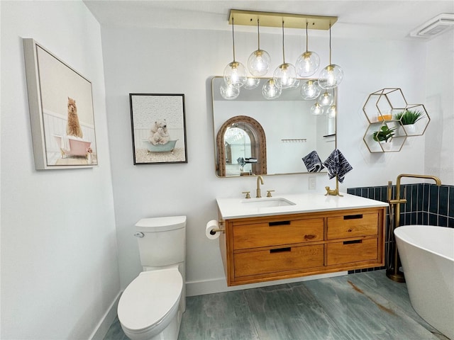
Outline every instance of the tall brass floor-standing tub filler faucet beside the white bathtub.
<path id="1" fill-rule="evenodd" d="M 394 220 L 394 224 L 390 226 L 389 232 L 392 233 L 392 239 L 394 239 L 394 229 L 399 227 L 400 225 L 400 205 L 402 203 L 406 203 L 406 187 L 404 188 L 404 197 L 400 198 L 400 181 L 402 177 L 409 177 L 409 178 L 414 178 L 414 179 L 433 179 L 435 181 L 437 186 L 441 186 L 441 181 L 438 177 L 436 176 L 431 176 L 431 175 L 415 175 L 415 174 L 400 174 L 397 176 L 397 183 L 396 183 L 396 198 L 394 200 L 392 199 L 392 181 L 388 182 L 388 203 L 389 203 L 389 216 L 392 217 L 391 221 Z M 393 212 L 394 210 L 394 218 L 393 218 Z M 390 246 L 390 244 L 388 244 Z M 389 261 L 388 259 L 387 261 Z M 402 271 L 399 271 L 399 267 L 401 266 L 400 264 L 400 258 L 399 258 L 399 252 L 397 251 L 397 244 L 394 239 L 394 259 L 390 266 L 387 265 L 387 271 L 386 271 L 386 276 L 390 278 L 391 280 L 397 281 L 397 282 L 405 282 L 405 277 L 404 273 Z"/>

